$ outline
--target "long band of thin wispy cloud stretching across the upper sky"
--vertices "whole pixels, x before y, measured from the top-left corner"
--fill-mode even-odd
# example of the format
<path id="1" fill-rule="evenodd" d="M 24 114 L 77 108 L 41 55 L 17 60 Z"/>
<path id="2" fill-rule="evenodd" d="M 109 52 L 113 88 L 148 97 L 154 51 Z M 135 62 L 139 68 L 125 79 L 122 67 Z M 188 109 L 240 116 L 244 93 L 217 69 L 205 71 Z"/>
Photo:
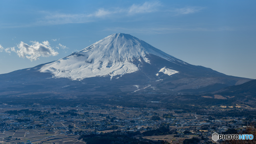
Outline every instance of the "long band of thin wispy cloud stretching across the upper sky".
<path id="1" fill-rule="evenodd" d="M 98 8 L 95 11 L 84 13 L 65 13 L 58 11 L 39 11 L 37 19 L 34 22 L 24 25 L 6 24 L 1 27 L 17 28 L 17 27 L 33 27 L 47 25 L 61 25 L 72 23 L 91 23 L 106 18 L 124 18 L 131 17 L 136 14 L 147 14 L 153 12 L 170 12 L 173 16 L 192 14 L 201 11 L 205 7 L 187 6 L 183 8 L 170 8 L 164 6 L 161 1 L 146 1 L 144 3 L 134 3 L 126 7 L 110 7 Z M 167 10 L 168 9 L 168 10 Z M 33 20 L 31 20 L 33 21 Z M 52 39 L 56 41 L 56 39 Z"/>

